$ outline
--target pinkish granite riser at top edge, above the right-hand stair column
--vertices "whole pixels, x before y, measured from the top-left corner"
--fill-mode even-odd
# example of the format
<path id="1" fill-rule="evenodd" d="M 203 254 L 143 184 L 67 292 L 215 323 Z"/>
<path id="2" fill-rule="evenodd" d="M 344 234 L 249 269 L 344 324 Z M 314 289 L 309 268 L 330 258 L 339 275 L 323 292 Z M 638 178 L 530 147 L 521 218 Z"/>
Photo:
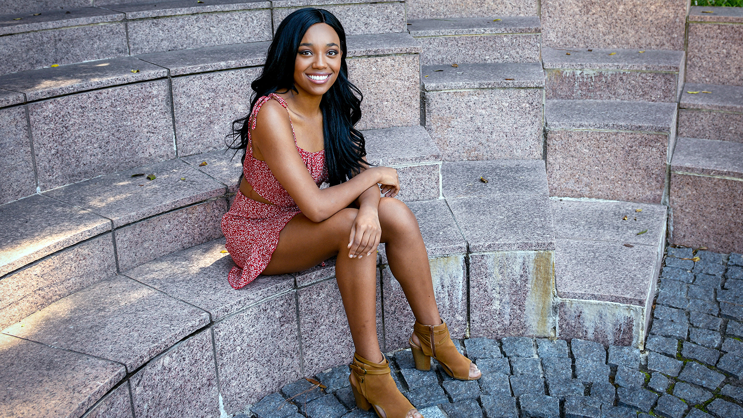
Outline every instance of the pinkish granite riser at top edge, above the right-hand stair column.
<path id="1" fill-rule="evenodd" d="M 552 48 L 684 50 L 683 0 L 542 1 L 543 42 Z"/>

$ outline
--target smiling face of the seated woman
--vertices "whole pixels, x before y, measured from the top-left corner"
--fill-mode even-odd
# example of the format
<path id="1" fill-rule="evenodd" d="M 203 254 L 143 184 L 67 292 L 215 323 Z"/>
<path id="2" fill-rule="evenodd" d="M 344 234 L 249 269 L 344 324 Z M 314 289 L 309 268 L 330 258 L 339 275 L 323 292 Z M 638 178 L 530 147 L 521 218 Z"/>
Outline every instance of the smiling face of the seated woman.
<path id="1" fill-rule="evenodd" d="M 340 38 L 325 23 L 312 25 L 296 51 L 294 85 L 300 94 L 322 96 L 331 88 L 340 72 Z"/>

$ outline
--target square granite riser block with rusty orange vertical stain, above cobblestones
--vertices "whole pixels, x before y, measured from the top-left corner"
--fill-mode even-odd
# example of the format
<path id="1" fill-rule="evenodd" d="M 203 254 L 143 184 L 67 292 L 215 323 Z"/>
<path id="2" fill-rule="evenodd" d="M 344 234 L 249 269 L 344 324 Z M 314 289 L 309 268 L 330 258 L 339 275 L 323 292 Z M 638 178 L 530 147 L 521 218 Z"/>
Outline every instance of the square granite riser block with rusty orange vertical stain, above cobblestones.
<path id="1" fill-rule="evenodd" d="M 470 336 L 554 336 L 554 251 L 470 255 Z"/>

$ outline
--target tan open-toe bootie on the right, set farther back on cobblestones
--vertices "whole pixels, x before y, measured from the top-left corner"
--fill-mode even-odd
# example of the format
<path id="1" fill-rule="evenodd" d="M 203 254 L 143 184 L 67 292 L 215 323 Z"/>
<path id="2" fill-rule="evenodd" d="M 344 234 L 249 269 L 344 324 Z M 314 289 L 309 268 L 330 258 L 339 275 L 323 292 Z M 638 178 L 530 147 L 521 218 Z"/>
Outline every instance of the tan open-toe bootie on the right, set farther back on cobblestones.
<path id="1" fill-rule="evenodd" d="M 440 325 L 424 325 L 415 321 L 413 333 L 418 336 L 421 345 L 415 344 L 410 337 L 410 350 L 418 370 L 431 369 L 431 357 L 444 368 L 449 376 L 459 380 L 477 380 L 480 376 L 470 378 L 470 364 L 472 361 L 462 356 L 454 346 L 449 329 L 444 321 Z"/>

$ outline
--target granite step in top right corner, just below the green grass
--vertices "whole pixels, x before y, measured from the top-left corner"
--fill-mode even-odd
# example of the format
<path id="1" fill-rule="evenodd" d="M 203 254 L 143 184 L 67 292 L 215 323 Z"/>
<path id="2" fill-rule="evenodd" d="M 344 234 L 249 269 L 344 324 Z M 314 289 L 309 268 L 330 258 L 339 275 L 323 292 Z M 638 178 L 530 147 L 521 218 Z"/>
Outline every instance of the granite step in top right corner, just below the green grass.
<path id="1" fill-rule="evenodd" d="M 687 20 L 686 81 L 743 86 L 741 7 L 692 6 Z"/>

